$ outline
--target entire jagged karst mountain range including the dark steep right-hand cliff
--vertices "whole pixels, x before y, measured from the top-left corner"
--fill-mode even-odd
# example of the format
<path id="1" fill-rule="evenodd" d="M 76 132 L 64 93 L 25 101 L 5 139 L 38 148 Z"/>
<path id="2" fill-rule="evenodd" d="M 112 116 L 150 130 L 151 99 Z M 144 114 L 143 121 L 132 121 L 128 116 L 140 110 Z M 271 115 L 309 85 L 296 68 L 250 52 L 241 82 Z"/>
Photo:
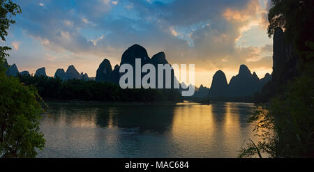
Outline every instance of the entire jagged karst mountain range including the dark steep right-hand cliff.
<path id="1" fill-rule="evenodd" d="M 211 87 L 207 88 L 200 86 L 195 87 L 195 95 L 193 98 L 209 97 L 210 100 L 223 100 L 223 101 L 253 101 L 253 95 L 255 95 L 255 102 L 267 102 L 270 97 L 276 95 L 283 88 L 282 86 L 287 83 L 289 79 L 297 75 L 297 59 L 298 56 L 292 49 L 292 45 L 285 40 L 285 33 L 281 28 L 277 28 L 274 33 L 274 56 L 273 56 L 273 72 L 272 74 L 266 74 L 264 78 L 259 79 L 255 72 L 253 74 L 246 65 L 241 65 L 239 68 L 239 74 L 232 77 L 229 84 L 225 77 L 225 73 L 218 70 L 211 83 Z M 158 64 L 169 64 L 166 60 L 165 53 L 159 52 L 151 58 L 149 58 L 146 49 L 140 45 L 133 45 L 129 47 L 121 57 L 120 66 L 125 63 L 130 63 L 135 67 L 135 58 L 141 58 L 142 65 L 151 63 L 154 66 Z M 27 75 L 30 76 L 28 71 L 19 72 L 17 65 L 4 64 L 8 69 L 6 75 L 17 76 Z M 54 77 L 59 77 L 63 81 L 68 79 L 84 79 L 84 80 L 96 80 L 107 81 L 115 84 L 119 84 L 119 78 L 121 74 L 119 72 L 119 65 L 115 65 L 112 69 L 112 65 L 108 59 L 104 59 L 100 63 L 96 72 L 96 78 L 89 78 L 85 73 L 79 73 L 75 69 L 74 65 L 70 65 L 66 72 L 63 69 L 58 69 Z M 158 71 L 156 71 L 156 76 Z M 45 68 L 39 68 L 36 70 L 35 76 L 47 76 Z M 173 86 L 173 72 L 172 72 L 172 86 Z M 157 78 L 157 77 L 156 77 Z M 165 83 L 165 82 L 164 82 Z M 157 83 L 156 83 L 157 85 Z M 181 85 L 185 85 L 182 83 Z M 246 99 L 248 97 L 248 99 Z"/>

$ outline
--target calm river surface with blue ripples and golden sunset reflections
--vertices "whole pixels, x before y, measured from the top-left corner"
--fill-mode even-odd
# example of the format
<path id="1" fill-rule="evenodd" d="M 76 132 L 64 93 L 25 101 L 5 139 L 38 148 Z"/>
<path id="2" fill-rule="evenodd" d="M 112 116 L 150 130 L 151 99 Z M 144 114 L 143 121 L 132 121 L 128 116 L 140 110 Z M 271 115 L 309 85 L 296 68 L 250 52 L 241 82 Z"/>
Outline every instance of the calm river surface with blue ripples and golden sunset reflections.
<path id="1" fill-rule="evenodd" d="M 236 157 L 253 104 L 50 103 L 38 157 Z"/>

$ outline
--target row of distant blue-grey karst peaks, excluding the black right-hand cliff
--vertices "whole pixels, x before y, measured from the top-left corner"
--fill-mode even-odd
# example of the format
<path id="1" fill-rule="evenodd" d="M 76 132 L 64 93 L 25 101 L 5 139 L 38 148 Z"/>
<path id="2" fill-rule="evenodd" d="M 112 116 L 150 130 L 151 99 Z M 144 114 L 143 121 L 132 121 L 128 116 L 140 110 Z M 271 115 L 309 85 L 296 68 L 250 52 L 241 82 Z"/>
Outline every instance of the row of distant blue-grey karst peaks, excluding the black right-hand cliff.
<path id="1" fill-rule="evenodd" d="M 170 64 L 168 63 L 165 53 L 159 52 L 152 56 L 151 58 L 147 54 L 147 50 L 140 45 L 133 45 L 129 47 L 124 54 L 122 54 L 120 66 L 123 64 L 130 64 L 135 68 L 135 58 L 141 59 L 141 65 L 152 64 L 156 67 L 156 79 L 158 78 L 158 64 Z M 119 84 L 119 79 L 123 73 L 119 72 L 119 65 L 115 65 L 112 69 L 112 65 L 110 61 L 105 58 L 102 63 L 100 63 L 97 71 L 96 71 L 96 81 L 107 81 L 112 82 L 114 84 Z M 17 66 L 15 64 L 8 67 L 7 75 L 16 76 L 19 73 L 17 70 Z M 29 75 L 29 72 L 23 71 L 20 72 L 20 75 Z M 135 72 L 134 72 L 135 75 Z M 145 74 L 142 74 L 144 77 Z M 45 72 L 45 68 L 39 68 L 36 70 L 35 76 L 47 76 Z M 164 72 L 165 76 L 165 72 Z M 89 78 L 85 73 L 79 73 L 74 65 L 70 65 L 66 72 L 59 68 L 55 74 L 55 78 L 59 78 L 63 81 L 68 79 L 84 79 L 89 80 L 93 78 Z M 135 77 L 135 76 L 134 76 Z M 93 79 L 93 80 L 94 80 Z M 165 77 L 164 77 L 165 79 Z M 271 75 L 268 73 L 264 78 L 259 79 L 255 72 L 253 74 L 248 69 L 246 65 L 241 65 L 239 69 L 239 74 L 232 77 L 230 83 L 227 84 L 227 79 L 225 77 L 225 73 L 221 70 L 218 70 L 212 80 L 211 88 L 207 88 L 204 86 L 200 86 L 200 88 L 195 87 L 195 95 L 193 97 L 202 98 L 202 97 L 210 97 L 211 100 L 230 100 L 230 97 L 245 97 L 245 96 L 253 96 L 254 93 L 260 91 L 262 87 L 271 80 Z M 171 73 L 171 81 L 172 87 L 174 87 L 174 72 L 172 70 Z M 177 81 L 177 80 L 176 80 Z M 181 85 L 185 85 L 182 83 Z M 158 86 L 158 81 L 156 81 L 156 88 Z M 164 80 L 164 88 L 165 88 L 165 80 Z"/>

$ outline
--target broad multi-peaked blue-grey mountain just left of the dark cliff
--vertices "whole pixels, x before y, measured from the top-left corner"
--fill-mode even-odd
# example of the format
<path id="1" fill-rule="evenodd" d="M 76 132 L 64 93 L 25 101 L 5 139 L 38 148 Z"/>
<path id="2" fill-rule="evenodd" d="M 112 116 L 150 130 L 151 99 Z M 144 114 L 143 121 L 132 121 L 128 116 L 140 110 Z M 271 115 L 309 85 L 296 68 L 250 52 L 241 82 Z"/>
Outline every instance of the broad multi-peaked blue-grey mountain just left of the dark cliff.
<path id="1" fill-rule="evenodd" d="M 246 65 L 241 65 L 239 74 L 232 77 L 228 86 L 228 94 L 230 96 L 246 96 L 254 95 L 261 88 L 260 79 Z"/>

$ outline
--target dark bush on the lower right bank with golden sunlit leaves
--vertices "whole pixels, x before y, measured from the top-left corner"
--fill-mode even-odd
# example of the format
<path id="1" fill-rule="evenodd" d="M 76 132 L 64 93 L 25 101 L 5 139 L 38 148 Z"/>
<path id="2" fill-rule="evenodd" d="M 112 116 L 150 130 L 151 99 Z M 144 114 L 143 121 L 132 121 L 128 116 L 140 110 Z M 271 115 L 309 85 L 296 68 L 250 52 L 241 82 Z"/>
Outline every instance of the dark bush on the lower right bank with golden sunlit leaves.
<path id="1" fill-rule="evenodd" d="M 313 70 L 312 65 L 249 119 L 257 123 L 260 141 L 257 148 L 246 143 L 239 157 L 252 157 L 257 150 L 270 157 L 314 157 Z"/>

